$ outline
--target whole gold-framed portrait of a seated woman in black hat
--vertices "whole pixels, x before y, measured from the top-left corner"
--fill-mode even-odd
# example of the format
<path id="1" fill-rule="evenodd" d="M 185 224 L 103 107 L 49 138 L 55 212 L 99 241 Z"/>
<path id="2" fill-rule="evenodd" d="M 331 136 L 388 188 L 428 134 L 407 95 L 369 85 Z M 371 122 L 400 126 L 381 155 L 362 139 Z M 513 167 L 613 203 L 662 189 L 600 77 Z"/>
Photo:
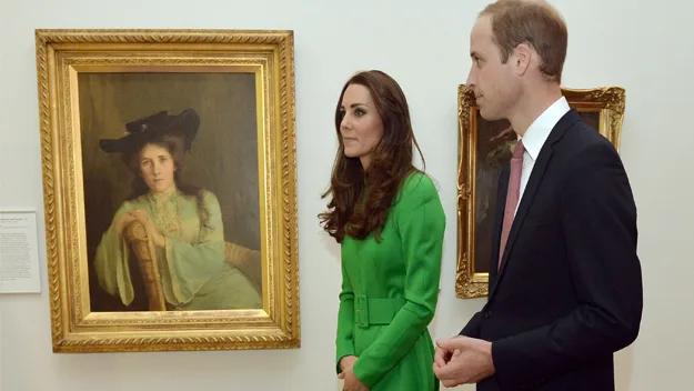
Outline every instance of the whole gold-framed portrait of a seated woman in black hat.
<path id="1" fill-rule="evenodd" d="M 36 31 L 54 352 L 300 347 L 293 44 Z"/>

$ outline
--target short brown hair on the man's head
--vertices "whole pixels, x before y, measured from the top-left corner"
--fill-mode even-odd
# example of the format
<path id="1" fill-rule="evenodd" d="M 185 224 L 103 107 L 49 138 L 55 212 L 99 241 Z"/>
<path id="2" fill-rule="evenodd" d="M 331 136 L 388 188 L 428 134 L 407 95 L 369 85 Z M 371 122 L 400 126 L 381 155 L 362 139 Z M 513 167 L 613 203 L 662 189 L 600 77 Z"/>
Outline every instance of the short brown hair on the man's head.
<path id="1" fill-rule="evenodd" d="M 492 19 L 502 63 L 515 47 L 527 43 L 540 54 L 545 78 L 561 83 L 569 34 L 564 19 L 552 6 L 542 0 L 499 0 L 486 6 L 480 12 L 483 16 Z"/>

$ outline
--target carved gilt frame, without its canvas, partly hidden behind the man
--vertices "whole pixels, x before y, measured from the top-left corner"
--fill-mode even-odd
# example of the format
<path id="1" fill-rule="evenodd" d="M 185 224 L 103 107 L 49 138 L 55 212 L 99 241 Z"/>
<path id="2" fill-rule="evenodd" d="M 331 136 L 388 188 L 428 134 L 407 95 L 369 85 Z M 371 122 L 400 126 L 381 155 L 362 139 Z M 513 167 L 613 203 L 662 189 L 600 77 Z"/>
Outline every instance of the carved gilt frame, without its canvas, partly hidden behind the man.
<path id="1" fill-rule="evenodd" d="M 599 132 L 606 137 L 615 148 L 620 149 L 620 138 L 622 133 L 622 122 L 624 120 L 625 90 L 620 87 L 602 87 L 595 89 L 562 89 L 569 104 L 575 108 L 585 119 L 592 120 Z M 480 271 L 479 262 L 485 262 L 476 258 L 477 213 L 481 209 L 481 200 L 477 199 L 477 163 L 480 162 L 479 134 L 480 124 L 492 129 L 494 123 L 496 129 L 504 129 L 506 144 L 497 144 L 495 151 L 489 152 L 485 158 L 489 161 L 494 154 L 497 166 L 503 163 L 503 158 L 499 158 L 499 151 L 507 151 L 513 141 L 513 132 L 504 120 L 487 122 L 479 114 L 474 93 L 464 84 L 457 89 L 457 116 L 459 116 L 459 156 L 457 156 L 457 268 L 455 273 L 455 295 L 461 299 L 472 299 L 486 297 L 489 294 L 489 272 Z M 491 136 L 494 138 L 499 133 L 492 129 Z M 489 131 L 487 131 L 489 132 Z M 487 134 L 487 136 L 490 136 Z M 507 152 L 510 154 L 510 152 Z M 506 160 L 507 161 L 507 160 Z M 484 163 L 486 164 L 486 163 Z M 497 172 L 497 171 L 496 171 Z M 497 176 L 485 182 L 487 189 L 495 189 Z M 489 193 L 489 192 L 487 192 Z M 495 196 L 495 194 L 494 194 Z M 489 207 L 489 209 L 493 209 Z M 484 225 L 489 228 L 487 224 Z M 485 231 L 489 234 L 489 231 Z M 489 261 L 486 261 L 489 263 Z"/>

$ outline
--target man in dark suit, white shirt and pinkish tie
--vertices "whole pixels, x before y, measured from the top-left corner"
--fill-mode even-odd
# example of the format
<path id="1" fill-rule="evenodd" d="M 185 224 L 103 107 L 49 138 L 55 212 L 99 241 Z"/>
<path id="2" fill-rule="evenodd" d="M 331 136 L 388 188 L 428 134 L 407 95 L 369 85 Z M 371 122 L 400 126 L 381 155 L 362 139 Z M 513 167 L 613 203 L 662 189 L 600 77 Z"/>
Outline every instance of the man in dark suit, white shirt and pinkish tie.
<path id="1" fill-rule="evenodd" d="M 500 178 L 489 299 L 436 342 L 445 387 L 614 390 L 613 353 L 638 334 L 636 207 L 615 148 L 562 96 L 567 33 L 540 1 L 487 6 L 467 84 L 517 133 Z"/>

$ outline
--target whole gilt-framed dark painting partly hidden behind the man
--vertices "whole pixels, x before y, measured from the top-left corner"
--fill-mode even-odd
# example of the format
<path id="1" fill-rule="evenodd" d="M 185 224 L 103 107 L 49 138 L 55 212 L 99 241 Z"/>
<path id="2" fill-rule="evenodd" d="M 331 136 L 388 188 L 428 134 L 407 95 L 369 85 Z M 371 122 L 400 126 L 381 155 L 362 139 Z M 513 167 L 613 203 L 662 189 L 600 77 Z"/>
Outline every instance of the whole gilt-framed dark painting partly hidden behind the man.
<path id="1" fill-rule="evenodd" d="M 624 118 L 625 91 L 620 87 L 562 89 L 569 104 L 617 149 Z M 511 159 L 515 133 L 509 121 L 485 121 L 480 117 L 474 93 L 457 89 L 457 270 L 455 295 L 461 299 L 487 295 L 489 264 L 496 183 Z"/>

